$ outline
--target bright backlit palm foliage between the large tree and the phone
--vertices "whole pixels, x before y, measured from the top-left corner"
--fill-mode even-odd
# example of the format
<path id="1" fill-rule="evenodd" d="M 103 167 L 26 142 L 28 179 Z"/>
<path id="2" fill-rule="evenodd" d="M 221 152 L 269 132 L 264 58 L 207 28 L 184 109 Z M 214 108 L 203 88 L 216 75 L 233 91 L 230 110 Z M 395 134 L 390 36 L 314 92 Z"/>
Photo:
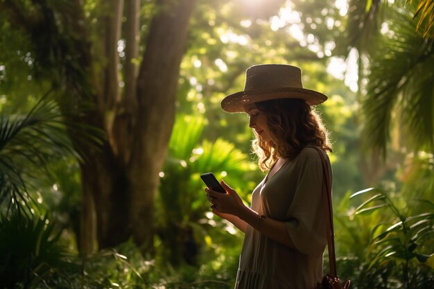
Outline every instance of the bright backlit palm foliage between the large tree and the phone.
<path id="1" fill-rule="evenodd" d="M 216 222 L 205 218 L 209 204 L 200 173 L 211 171 L 219 179 L 227 176 L 227 182 L 243 196 L 254 186 L 248 180 L 254 165 L 232 143 L 223 139 L 200 142 L 204 125 L 201 116 L 177 117 L 161 175 L 157 228 L 163 259 L 175 266 L 183 262 L 196 264 L 202 245 L 212 243 L 204 225 Z"/>

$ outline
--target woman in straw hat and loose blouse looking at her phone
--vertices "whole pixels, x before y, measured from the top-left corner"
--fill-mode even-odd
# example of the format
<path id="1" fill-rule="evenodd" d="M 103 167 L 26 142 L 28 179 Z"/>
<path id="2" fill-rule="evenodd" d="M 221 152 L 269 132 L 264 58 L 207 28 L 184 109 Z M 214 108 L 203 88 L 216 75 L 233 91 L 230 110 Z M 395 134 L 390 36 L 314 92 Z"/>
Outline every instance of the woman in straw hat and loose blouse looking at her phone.
<path id="1" fill-rule="evenodd" d="M 322 279 L 327 243 L 320 155 L 331 152 L 311 105 L 327 96 L 302 87 L 301 71 L 261 64 L 246 71 L 244 91 L 223 99 L 227 112 L 246 112 L 259 168 L 268 171 L 246 207 L 224 181 L 226 194 L 205 189 L 212 211 L 245 233 L 235 288 L 313 289 Z"/>

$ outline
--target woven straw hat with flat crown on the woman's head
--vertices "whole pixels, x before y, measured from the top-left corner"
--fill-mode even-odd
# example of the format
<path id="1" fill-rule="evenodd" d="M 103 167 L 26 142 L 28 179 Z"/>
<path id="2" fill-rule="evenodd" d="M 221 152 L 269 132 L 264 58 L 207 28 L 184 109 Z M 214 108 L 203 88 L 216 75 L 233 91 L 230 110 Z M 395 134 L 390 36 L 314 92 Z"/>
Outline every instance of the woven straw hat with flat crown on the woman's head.
<path id="1" fill-rule="evenodd" d="M 309 105 L 319 105 L 327 96 L 304 89 L 302 71 L 286 64 L 260 64 L 245 71 L 244 90 L 223 98 L 226 112 L 245 112 L 244 105 L 278 98 L 302 98 Z"/>

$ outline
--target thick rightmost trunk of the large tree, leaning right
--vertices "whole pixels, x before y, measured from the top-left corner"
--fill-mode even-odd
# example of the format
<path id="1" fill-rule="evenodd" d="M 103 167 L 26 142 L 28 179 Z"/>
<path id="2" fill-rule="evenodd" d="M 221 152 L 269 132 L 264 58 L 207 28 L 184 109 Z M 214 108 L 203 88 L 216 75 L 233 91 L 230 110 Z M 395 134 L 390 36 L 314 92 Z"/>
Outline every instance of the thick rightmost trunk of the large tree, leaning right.
<path id="1" fill-rule="evenodd" d="M 128 166 L 133 187 L 132 234 L 145 251 L 153 248 L 155 192 L 175 119 L 180 62 L 186 49 L 187 28 L 195 0 L 158 3 L 161 10 L 150 24 L 137 80 L 138 134 Z"/>

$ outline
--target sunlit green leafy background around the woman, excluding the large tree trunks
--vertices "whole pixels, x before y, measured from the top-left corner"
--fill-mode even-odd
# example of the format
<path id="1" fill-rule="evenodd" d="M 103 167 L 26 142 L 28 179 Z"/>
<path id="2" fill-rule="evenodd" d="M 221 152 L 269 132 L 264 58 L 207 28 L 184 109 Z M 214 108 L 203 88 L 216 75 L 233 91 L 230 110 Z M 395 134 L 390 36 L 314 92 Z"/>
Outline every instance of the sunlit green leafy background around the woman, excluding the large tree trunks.
<path id="1" fill-rule="evenodd" d="M 133 240 L 80 251 L 83 156 L 67 128 L 96 148 L 103 132 L 65 121 L 33 42 L 0 17 L 1 288 L 232 288 L 243 236 L 209 211 L 199 175 L 214 172 L 246 203 L 263 177 L 246 117 L 220 110 L 256 63 L 296 64 L 305 87 L 329 96 L 318 110 L 332 132 L 340 277 L 434 287 L 432 1 L 256 2 L 196 3 L 152 254 Z M 98 3 L 83 1 L 89 19 Z M 143 36 L 154 7 L 141 9 Z"/>

